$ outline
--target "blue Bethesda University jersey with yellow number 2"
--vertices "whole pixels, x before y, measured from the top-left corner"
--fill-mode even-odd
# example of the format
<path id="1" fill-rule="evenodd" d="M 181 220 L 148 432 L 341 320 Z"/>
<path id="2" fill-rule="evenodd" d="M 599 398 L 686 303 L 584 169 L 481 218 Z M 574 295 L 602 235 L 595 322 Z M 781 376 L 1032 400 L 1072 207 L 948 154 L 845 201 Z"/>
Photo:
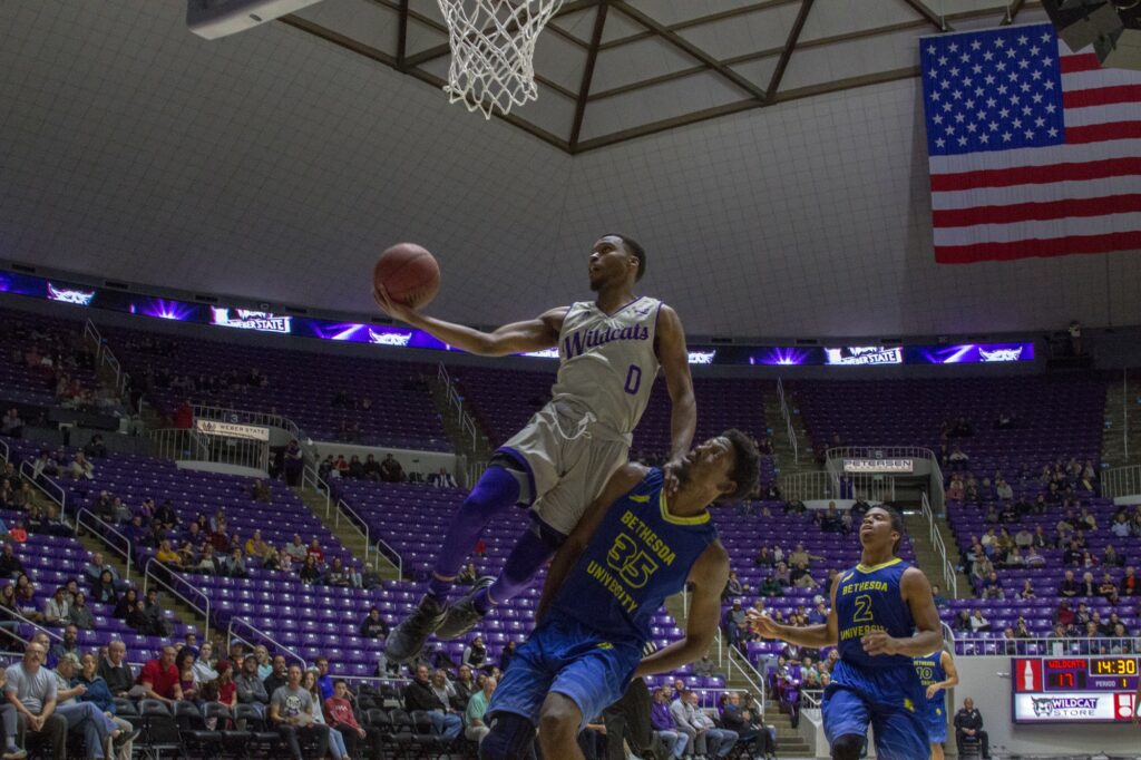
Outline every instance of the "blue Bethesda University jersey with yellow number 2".
<path id="1" fill-rule="evenodd" d="M 872 631 L 887 631 L 895 638 L 911 638 L 915 632 L 911 607 L 904 601 L 900 581 L 911 565 L 896 558 L 856 567 L 840 575 L 836 589 L 836 623 L 840 657 L 858 668 L 913 668 L 906 655 L 871 656 L 860 639 Z"/>

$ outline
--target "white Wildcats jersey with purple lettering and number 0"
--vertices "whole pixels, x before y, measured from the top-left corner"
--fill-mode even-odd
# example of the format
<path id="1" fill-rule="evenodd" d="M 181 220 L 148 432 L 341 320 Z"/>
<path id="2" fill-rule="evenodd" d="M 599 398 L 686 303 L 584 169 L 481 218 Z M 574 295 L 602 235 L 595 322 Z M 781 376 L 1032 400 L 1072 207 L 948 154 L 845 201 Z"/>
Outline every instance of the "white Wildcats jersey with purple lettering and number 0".
<path id="1" fill-rule="evenodd" d="M 662 301 L 642 296 L 614 314 L 589 301 L 572 304 L 559 331 L 553 399 L 577 401 L 618 434 L 638 427 L 654 389 L 654 353 Z"/>

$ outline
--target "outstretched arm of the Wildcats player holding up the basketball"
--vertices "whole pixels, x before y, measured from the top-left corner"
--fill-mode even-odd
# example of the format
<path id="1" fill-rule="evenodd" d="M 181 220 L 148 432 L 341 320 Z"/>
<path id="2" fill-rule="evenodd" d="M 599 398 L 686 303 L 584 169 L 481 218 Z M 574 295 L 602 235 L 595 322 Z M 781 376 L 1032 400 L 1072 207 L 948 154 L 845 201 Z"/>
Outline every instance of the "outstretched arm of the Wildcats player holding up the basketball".
<path id="1" fill-rule="evenodd" d="M 399 320 L 418 330 L 423 330 L 437 340 L 479 356 L 507 356 L 553 348 L 559 343 L 559 331 L 567 315 L 567 307 L 560 306 L 534 320 L 512 322 L 492 332 L 484 332 L 420 314 L 390 299 L 383 289 L 378 289 L 375 297 L 380 308 L 394 320 Z"/>

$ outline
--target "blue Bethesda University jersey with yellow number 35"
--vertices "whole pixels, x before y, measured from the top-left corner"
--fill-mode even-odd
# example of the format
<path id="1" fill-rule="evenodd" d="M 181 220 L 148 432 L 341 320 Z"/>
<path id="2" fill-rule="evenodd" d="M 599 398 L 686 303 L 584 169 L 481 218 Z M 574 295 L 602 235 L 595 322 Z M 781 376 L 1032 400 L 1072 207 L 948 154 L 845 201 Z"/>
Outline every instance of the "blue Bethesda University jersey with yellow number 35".
<path id="1" fill-rule="evenodd" d="M 674 517 L 654 468 L 607 510 L 552 609 L 601 633 L 650 638 L 649 620 L 717 540 L 709 511 Z"/>

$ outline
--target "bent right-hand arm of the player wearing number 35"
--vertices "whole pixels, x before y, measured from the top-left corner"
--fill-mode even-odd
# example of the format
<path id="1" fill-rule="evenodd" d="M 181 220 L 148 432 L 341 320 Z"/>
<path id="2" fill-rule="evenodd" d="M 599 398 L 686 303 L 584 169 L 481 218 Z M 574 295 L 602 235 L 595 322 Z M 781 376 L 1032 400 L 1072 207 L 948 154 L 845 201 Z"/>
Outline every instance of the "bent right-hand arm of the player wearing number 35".
<path id="1" fill-rule="evenodd" d="M 667 673 L 688 665 L 713 644 L 718 620 L 721 617 L 721 590 L 729 582 L 729 555 L 720 541 L 709 545 L 689 571 L 689 582 L 694 587 L 694 600 L 689 607 L 686 638 L 674 641 L 646 657 L 634 671 L 639 676 Z"/>

